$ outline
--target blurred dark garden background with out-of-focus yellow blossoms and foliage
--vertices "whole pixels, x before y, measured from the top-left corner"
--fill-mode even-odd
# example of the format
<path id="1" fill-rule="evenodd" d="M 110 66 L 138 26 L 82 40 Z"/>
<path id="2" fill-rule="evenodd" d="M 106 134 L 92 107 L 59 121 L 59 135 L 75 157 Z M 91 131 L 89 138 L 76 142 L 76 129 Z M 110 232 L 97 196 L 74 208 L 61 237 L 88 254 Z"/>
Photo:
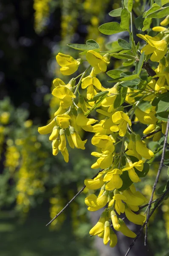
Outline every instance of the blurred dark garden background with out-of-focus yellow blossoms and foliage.
<path id="1" fill-rule="evenodd" d="M 113 52 L 110 41 L 116 41 L 116 36 L 104 37 L 98 26 L 112 21 L 108 12 L 120 4 L 112 0 L 97 0 L 97 4 L 96 0 L 0 3 L 1 256 L 101 255 L 88 234 L 92 224 L 84 204 L 87 190 L 49 228 L 45 227 L 83 186 L 84 179 L 96 172 L 90 169 L 90 136 L 82 134 L 88 139 L 85 151 L 69 149 L 66 164 L 60 155 L 52 155 L 48 136 L 38 134 L 37 127 L 45 125 L 57 109 L 58 102 L 50 93 L 52 80 L 63 79 L 56 54 L 64 52 L 78 58 L 66 44 L 83 44 L 87 39 L 96 40 L 102 50 L 108 43 L 107 50 Z M 135 0 L 134 4 L 139 14 L 141 2 Z M 125 36 L 121 34 L 121 38 Z M 117 68 L 121 63 L 114 60 L 111 65 Z M 65 82 L 67 79 L 64 77 Z M 105 75 L 99 79 L 106 87 Z M 153 143 L 149 146 L 155 147 Z M 147 198 L 157 169 L 158 164 L 153 164 L 145 181 L 138 184 Z M 163 175 L 160 185 L 165 179 Z M 149 247 L 155 256 L 169 253 L 168 203 L 165 201 L 149 224 Z"/>

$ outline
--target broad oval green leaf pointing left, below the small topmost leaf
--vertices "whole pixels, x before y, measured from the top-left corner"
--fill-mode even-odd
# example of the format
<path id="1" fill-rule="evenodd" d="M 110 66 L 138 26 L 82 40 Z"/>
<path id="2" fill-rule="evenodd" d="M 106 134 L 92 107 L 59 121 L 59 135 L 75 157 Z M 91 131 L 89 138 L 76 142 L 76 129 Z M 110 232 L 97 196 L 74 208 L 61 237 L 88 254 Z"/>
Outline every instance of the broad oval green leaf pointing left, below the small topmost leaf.
<path id="1" fill-rule="evenodd" d="M 99 31 L 104 35 L 113 35 L 126 30 L 127 29 L 121 28 L 120 24 L 117 22 L 108 22 L 99 26 Z"/>

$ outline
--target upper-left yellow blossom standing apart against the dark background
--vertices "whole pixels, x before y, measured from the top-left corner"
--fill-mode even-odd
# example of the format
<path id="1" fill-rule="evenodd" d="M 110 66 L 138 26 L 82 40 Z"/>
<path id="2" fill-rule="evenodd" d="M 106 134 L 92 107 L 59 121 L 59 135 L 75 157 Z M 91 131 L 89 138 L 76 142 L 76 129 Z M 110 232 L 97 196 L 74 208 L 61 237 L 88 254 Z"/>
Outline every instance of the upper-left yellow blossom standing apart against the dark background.
<path id="1" fill-rule="evenodd" d="M 70 76 L 78 70 L 79 65 L 81 64 L 81 59 L 75 60 L 70 55 L 65 55 L 63 53 L 58 53 L 56 55 L 56 61 L 61 66 L 60 72 L 64 76 Z"/>

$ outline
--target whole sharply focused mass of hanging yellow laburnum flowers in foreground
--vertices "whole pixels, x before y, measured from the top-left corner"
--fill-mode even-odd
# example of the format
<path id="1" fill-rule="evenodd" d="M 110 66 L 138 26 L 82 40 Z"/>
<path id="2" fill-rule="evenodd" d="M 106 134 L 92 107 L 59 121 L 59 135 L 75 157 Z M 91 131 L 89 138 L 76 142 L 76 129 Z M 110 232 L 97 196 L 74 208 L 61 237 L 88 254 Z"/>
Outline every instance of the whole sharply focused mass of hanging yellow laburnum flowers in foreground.
<path id="1" fill-rule="evenodd" d="M 90 2 L 85 1 L 85 8 L 90 6 Z M 93 23 L 96 21 L 93 18 Z M 90 235 L 101 237 L 104 244 L 110 243 L 110 247 L 114 247 L 117 243 L 116 231 L 131 238 L 136 237 L 120 218 L 121 213 L 125 213 L 127 219 L 134 224 L 143 225 L 145 221 L 145 216 L 136 212 L 139 206 L 146 202 L 146 198 L 141 192 L 136 191 L 133 183 L 140 182 L 141 177 L 147 174 L 149 160 L 152 161 L 155 154 L 147 147 L 144 138 L 141 139 L 140 134 L 133 131 L 132 124 L 138 122 L 146 125 L 143 134 L 148 134 L 147 138 L 153 137 L 153 141 L 160 140 L 161 135 L 166 131 L 165 119 L 158 118 L 156 105 L 151 103 L 169 90 L 169 54 L 167 53 L 169 33 L 165 29 L 165 32 L 161 31 L 155 37 L 142 34 L 138 34 L 138 37 L 147 43 L 141 51 L 136 48 L 132 36 L 130 44 L 125 42 L 128 50 L 114 55 L 99 52 L 98 48 L 90 49 L 87 45 L 89 50 L 84 49 L 83 55 L 89 66 L 82 74 L 72 78 L 68 84 L 59 78 L 54 79 L 55 88 L 52 95 L 56 97 L 59 108 L 56 109 L 54 118 L 52 117 L 48 125 L 38 128 L 40 134 L 50 134 L 53 154 L 57 155 L 60 151 L 65 162 L 69 160 L 68 147 L 85 149 L 87 140 L 82 140 L 79 131 L 94 133 L 91 144 L 96 147 L 96 151 L 91 155 L 96 157 L 96 162 L 91 168 L 101 170 L 93 179 L 85 180 L 85 186 L 89 190 L 85 204 L 89 211 L 107 207 L 90 230 Z M 88 43 L 97 46 L 96 42 Z M 75 49 L 78 49 L 77 45 Z M 151 73 L 156 75 L 152 76 L 151 81 L 147 79 L 146 82 L 140 74 L 142 68 L 146 66 L 148 55 L 151 55 L 151 61 L 158 62 L 158 67 L 151 70 Z M 111 56 L 128 58 L 129 64 L 133 59 L 137 64 L 132 75 L 122 70 L 110 70 L 107 74 L 113 78 L 110 82 L 115 82 L 115 85 L 105 88 L 98 74 L 107 71 Z M 62 75 L 69 76 L 78 70 L 79 65 L 84 61 L 84 56 L 82 59 L 74 59 L 70 55 L 58 53 L 56 61 Z M 128 63 L 125 64 L 127 66 Z M 147 73 L 149 74 L 148 71 Z M 147 108 L 144 108 L 145 101 L 148 102 Z M 91 118 L 93 116 L 90 114 L 95 110 L 99 116 L 101 115 L 100 120 Z M 149 135 L 156 131 L 157 133 Z M 98 189 L 99 194 L 94 194 L 93 190 Z"/>

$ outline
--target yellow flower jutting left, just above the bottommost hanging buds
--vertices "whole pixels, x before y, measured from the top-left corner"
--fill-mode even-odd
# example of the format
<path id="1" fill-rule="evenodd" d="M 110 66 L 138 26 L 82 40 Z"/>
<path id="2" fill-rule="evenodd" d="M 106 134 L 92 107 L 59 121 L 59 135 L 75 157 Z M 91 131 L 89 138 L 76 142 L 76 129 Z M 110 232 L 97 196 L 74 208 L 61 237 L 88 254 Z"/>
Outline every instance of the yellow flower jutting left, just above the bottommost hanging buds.
<path id="1" fill-rule="evenodd" d="M 97 211 L 98 209 L 101 209 L 107 204 L 108 202 L 107 195 L 108 195 L 107 191 L 104 191 L 99 198 L 97 198 L 96 195 L 91 194 L 87 198 L 85 198 L 85 204 L 88 207 L 91 207 L 94 211 Z"/>

